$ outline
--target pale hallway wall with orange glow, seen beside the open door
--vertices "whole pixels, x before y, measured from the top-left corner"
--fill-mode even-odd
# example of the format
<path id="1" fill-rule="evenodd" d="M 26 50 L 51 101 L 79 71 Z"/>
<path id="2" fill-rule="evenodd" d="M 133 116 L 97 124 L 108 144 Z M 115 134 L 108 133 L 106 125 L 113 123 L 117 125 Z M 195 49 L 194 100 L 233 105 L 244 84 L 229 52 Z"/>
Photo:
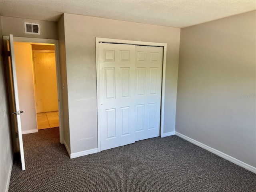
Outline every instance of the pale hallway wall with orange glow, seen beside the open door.
<path id="1" fill-rule="evenodd" d="M 22 134 L 37 132 L 31 45 L 14 42 Z"/>

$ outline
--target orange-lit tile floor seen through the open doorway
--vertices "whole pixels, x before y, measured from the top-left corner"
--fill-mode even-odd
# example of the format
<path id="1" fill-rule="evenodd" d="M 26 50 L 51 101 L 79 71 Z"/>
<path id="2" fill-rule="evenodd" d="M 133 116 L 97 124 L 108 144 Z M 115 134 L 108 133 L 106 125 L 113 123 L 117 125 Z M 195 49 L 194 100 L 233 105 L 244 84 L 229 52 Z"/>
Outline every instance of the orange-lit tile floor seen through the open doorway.
<path id="1" fill-rule="evenodd" d="M 48 129 L 58 127 L 59 125 L 59 112 L 45 112 L 38 113 L 37 116 L 37 127 L 39 129 Z"/>

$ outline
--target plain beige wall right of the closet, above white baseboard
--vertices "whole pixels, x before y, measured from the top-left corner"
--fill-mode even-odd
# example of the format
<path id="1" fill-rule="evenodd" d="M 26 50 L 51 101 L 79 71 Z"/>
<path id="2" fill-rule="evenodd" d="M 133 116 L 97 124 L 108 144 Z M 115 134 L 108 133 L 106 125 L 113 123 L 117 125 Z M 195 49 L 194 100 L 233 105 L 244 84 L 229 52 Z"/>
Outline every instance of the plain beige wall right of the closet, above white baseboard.
<path id="1" fill-rule="evenodd" d="M 256 12 L 183 28 L 176 132 L 256 167 Z"/>

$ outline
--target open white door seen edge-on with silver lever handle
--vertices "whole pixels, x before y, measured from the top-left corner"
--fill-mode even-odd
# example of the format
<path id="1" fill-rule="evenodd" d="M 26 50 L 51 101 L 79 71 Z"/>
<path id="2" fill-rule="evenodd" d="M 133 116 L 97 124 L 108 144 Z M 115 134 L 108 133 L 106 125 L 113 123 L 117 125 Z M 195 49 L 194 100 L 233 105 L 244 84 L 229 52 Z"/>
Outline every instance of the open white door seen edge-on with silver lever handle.
<path id="1" fill-rule="evenodd" d="M 13 44 L 13 36 L 9 36 L 9 51 L 10 51 L 10 71 L 11 71 L 11 82 L 12 82 L 12 90 L 10 94 L 14 96 L 14 111 L 12 114 L 16 117 L 12 123 L 16 124 L 17 126 L 17 135 L 18 135 L 18 144 L 19 144 L 19 151 L 20 151 L 20 159 L 22 170 L 25 170 L 25 159 L 24 159 L 24 149 L 23 149 L 23 141 L 22 141 L 22 131 L 21 131 L 21 121 L 20 121 L 20 114 L 23 111 L 20 111 L 19 106 L 19 97 L 18 97 L 18 86 L 17 86 L 17 77 L 16 77 L 16 66 L 15 66 L 15 57 L 14 57 L 14 44 Z"/>

